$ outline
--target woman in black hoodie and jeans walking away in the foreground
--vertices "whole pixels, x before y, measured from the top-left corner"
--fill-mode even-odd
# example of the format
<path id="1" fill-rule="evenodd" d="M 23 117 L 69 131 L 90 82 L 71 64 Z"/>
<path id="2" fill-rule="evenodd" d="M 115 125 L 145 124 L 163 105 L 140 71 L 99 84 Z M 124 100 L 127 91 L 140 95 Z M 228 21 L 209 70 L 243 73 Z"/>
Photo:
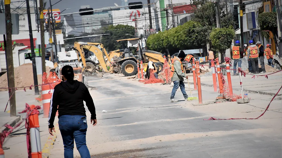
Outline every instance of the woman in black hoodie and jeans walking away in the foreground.
<path id="1" fill-rule="evenodd" d="M 74 80 L 73 68 L 62 68 L 63 82 L 55 86 L 49 110 L 49 133 L 53 135 L 54 119 L 58 109 L 59 129 L 64 144 L 64 157 L 73 158 L 74 141 L 81 158 L 90 158 L 86 146 L 87 121 L 83 101 L 91 113 L 91 124 L 97 124 L 95 106 L 92 97 L 82 82 Z"/>

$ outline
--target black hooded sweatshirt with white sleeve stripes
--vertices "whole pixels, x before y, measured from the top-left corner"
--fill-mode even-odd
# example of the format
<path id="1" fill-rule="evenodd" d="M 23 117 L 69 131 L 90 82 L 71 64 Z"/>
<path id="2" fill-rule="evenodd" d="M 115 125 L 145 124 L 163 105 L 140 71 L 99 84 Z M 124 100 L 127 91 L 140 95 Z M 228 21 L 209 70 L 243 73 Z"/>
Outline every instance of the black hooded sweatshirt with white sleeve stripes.
<path id="1" fill-rule="evenodd" d="M 54 127 L 53 123 L 57 110 L 59 113 L 58 118 L 62 115 L 86 116 L 83 100 L 91 113 L 91 119 L 96 119 L 93 99 L 84 83 L 74 80 L 56 85 L 50 101 L 49 128 Z"/>

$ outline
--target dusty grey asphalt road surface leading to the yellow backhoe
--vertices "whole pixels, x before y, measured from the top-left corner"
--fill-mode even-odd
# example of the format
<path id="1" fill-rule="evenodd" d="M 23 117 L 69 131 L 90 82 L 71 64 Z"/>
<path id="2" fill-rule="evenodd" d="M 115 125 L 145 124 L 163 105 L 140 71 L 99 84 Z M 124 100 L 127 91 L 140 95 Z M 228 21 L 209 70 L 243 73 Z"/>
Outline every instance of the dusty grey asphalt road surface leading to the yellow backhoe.
<path id="1" fill-rule="evenodd" d="M 119 77 L 90 78 L 89 85 L 97 88 L 92 96 L 99 129 L 107 137 L 104 143 L 111 148 L 118 142 L 114 148 L 118 151 L 109 149 L 92 155 L 93 158 L 282 157 L 280 126 L 272 128 L 267 123 L 246 120 L 203 120 L 213 112 L 193 110 L 187 101 L 170 103 L 172 87 L 164 90 L 159 85 L 155 89 L 133 82 Z M 217 95 L 202 89 L 203 96 Z M 181 92 L 177 92 L 175 99 L 183 100 Z M 269 121 L 281 121 L 281 113 L 274 112 L 274 116 L 280 118 Z"/>

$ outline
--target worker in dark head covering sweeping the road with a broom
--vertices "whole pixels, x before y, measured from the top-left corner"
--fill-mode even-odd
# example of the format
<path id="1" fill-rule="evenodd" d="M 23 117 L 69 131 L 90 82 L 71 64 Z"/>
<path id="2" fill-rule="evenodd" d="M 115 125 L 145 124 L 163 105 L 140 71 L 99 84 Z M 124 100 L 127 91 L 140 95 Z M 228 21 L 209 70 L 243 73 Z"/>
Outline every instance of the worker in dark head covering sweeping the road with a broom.
<path id="1" fill-rule="evenodd" d="M 188 76 L 186 76 L 184 73 L 184 68 L 182 64 L 184 58 L 185 58 L 184 51 L 180 51 L 178 56 L 174 57 L 172 60 L 170 77 L 171 77 L 171 82 L 173 82 L 173 89 L 171 91 L 170 102 L 177 102 L 177 100 L 174 99 L 174 96 L 179 87 L 185 100 L 188 99 L 188 95 L 186 94 L 185 85 L 183 82 L 184 77 L 188 78 Z"/>

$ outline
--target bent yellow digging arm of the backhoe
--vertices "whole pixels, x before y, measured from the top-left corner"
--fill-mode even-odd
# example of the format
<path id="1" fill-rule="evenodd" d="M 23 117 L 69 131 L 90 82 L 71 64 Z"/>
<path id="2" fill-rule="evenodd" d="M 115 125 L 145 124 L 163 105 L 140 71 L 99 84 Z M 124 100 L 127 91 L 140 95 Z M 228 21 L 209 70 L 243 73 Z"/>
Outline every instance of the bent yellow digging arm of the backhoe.
<path id="1" fill-rule="evenodd" d="M 111 66 L 110 58 L 103 44 L 92 42 L 74 42 L 74 48 L 79 52 L 84 67 L 86 67 L 86 62 L 83 48 L 93 52 L 101 64 L 102 69 L 105 72 L 109 72 L 107 66 Z M 105 60 L 103 54 L 107 57 L 107 61 Z"/>

